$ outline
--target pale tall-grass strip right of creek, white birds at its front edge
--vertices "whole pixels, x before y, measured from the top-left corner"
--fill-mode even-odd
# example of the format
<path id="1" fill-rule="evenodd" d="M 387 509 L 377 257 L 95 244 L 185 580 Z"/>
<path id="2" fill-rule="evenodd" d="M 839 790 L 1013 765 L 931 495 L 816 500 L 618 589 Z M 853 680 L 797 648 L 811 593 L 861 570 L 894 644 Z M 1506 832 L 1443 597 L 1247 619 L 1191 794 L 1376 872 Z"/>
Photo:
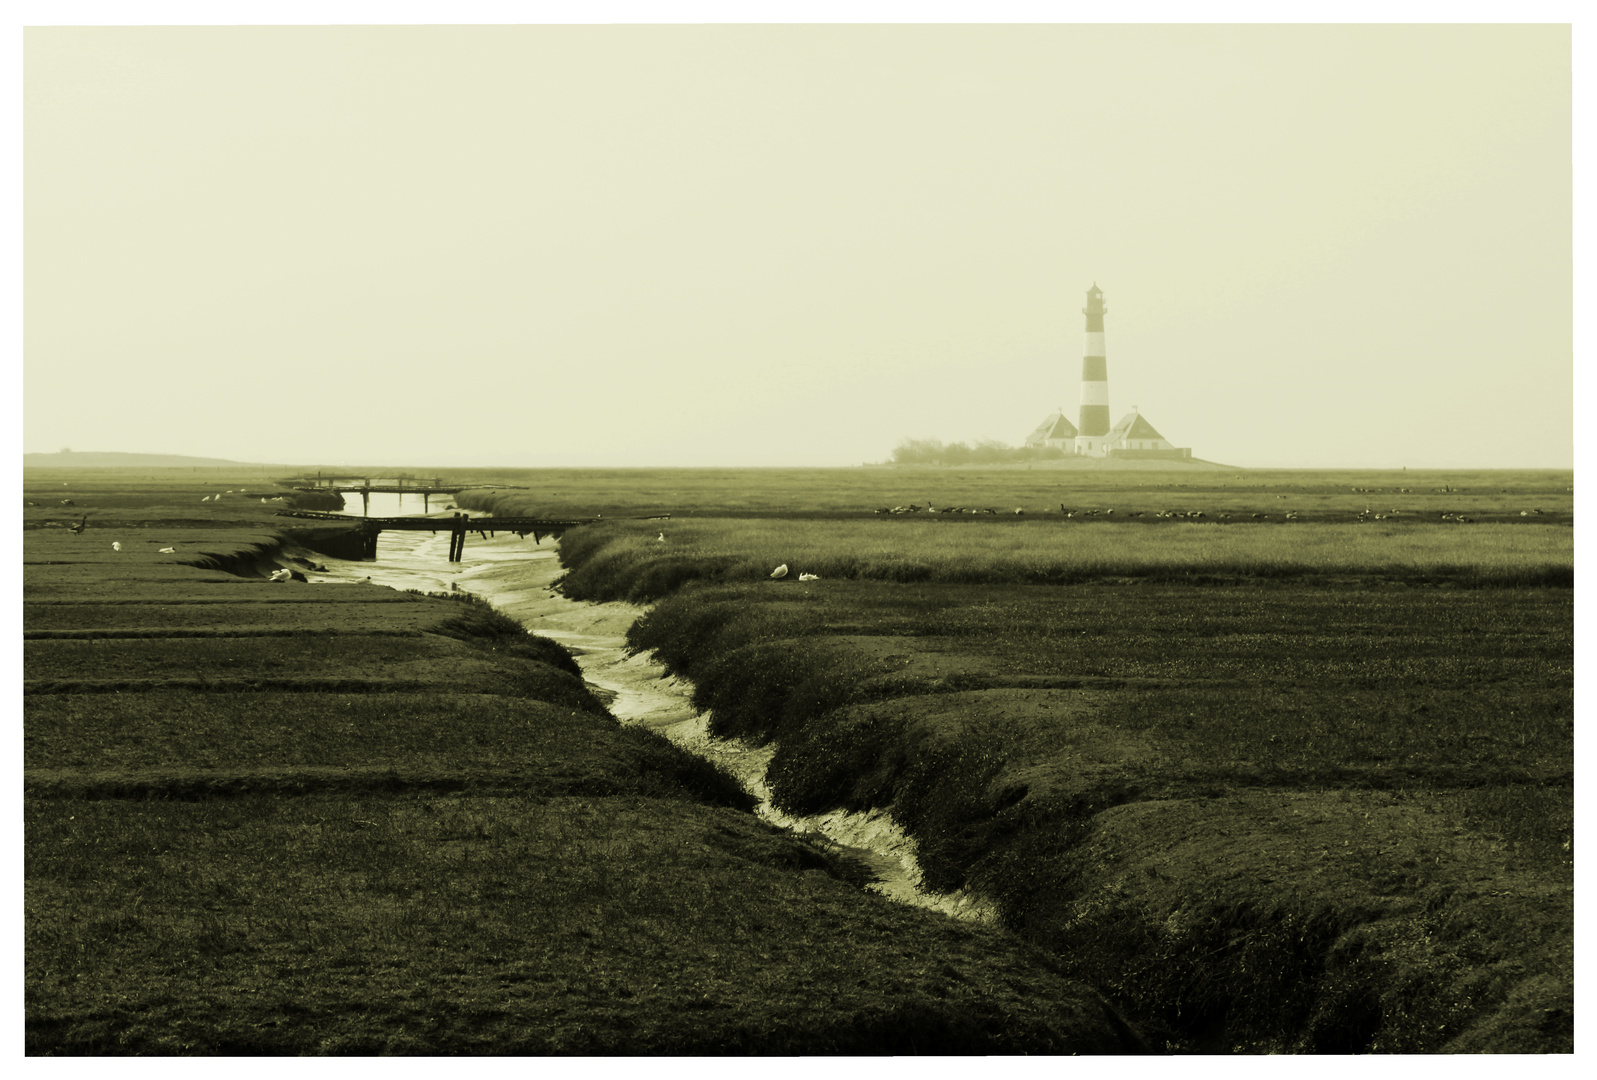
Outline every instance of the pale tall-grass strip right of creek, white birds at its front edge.
<path id="1" fill-rule="evenodd" d="M 612 522 L 562 540 L 577 599 L 647 602 L 685 582 L 792 577 L 939 585 L 1143 580 L 1234 585 L 1356 580 L 1463 586 L 1571 585 L 1568 529 L 1048 519 Z M 660 534 L 666 534 L 661 542 Z"/>

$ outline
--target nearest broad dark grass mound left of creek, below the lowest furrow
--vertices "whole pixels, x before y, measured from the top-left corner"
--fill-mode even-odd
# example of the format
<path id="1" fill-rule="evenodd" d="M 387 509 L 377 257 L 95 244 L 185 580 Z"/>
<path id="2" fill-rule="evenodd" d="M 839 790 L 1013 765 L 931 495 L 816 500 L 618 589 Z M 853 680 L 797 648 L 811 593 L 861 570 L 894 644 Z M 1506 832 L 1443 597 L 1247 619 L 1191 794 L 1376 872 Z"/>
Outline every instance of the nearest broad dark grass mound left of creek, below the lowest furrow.
<path id="1" fill-rule="evenodd" d="M 1140 1048 L 1012 938 L 690 802 L 29 800 L 26 842 L 30 1054 Z"/>

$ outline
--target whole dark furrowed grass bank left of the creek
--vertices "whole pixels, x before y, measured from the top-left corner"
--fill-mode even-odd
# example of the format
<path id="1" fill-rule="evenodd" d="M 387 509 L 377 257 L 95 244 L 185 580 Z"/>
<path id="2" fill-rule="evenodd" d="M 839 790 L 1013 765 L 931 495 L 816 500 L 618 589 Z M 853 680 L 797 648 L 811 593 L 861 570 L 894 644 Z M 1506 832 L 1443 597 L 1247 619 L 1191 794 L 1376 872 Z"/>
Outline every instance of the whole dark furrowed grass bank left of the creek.
<path id="1" fill-rule="evenodd" d="M 270 554 L 211 529 L 217 566 Z M 1008 935 L 759 823 L 484 606 L 121 535 L 24 535 L 29 1053 L 1140 1045 Z"/>

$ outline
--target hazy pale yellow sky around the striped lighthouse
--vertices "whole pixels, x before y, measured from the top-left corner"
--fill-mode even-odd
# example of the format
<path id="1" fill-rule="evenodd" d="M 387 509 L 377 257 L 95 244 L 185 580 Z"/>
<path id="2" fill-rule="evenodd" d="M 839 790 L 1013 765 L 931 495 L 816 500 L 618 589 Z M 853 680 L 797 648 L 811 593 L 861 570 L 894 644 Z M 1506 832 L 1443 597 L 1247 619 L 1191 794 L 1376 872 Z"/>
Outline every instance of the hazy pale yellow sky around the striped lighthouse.
<path id="1" fill-rule="evenodd" d="M 1573 465 L 1565 26 L 24 32 L 24 449 Z"/>

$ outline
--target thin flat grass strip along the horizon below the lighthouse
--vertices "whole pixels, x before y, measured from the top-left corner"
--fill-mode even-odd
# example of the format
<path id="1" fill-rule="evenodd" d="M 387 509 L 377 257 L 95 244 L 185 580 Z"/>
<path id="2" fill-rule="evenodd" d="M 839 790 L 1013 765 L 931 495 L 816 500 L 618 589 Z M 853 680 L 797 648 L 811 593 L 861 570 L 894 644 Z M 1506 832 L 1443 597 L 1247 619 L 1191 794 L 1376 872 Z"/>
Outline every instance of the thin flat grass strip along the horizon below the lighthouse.
<path id="1" fill-rule="evenodd" d="M 302 474 L 315 474 L 315 468 Z M 334 470 L 327 470 L 334 471 Z M 339 473 L 353 471 L 339 468 Z M 391 476 L 396 470 L 369 470 Z M 1573 471 L 1516 470 L 1236 470 L 1225 467 L 1131 467 L 1113 462 L 1064 462 L 1033 468 L 543 468 L 414 470 L 462 484 L 476 500 L 503 503 L 501 513 L 592 518 L 709 514 L 715 518 L 846 518 L 907 506 L 992 508 L 1012 514 L 1078 514 L 1115 510 L 1116 516 L 1182 510 L 1220 513 L 1332 514 L 1361 511 L 1439 518 L 1442 513 L 1520 519 L 1543 510 L 1541 521 L 1573 514 Z M 224 522 L 271 522 L 286 497 L 287 476 L 262 471 L 203 470 L 62 470 L 30 468 L 24 478 L 24 526 L 101 521 L 158 529 L 161 522 L 203 527 Z M 220 502 L 209 502 L 217 494 Z M 72 500 L 64 506 L 62 500 Z M 208 502 L 201 502 L 208 498 Z M 356 498 L 358 505 L 359 500 Z M 484 506 L 485 508 L 485 506 Z M 104 518 L 101 518 L 104 514 Z M 1562 514 L 1562 518 L 1559 518 Z M 1538 518 L 1527 514 L 1525 521 Z M 163 545 L 164 546 L 164 545 Z"/>

